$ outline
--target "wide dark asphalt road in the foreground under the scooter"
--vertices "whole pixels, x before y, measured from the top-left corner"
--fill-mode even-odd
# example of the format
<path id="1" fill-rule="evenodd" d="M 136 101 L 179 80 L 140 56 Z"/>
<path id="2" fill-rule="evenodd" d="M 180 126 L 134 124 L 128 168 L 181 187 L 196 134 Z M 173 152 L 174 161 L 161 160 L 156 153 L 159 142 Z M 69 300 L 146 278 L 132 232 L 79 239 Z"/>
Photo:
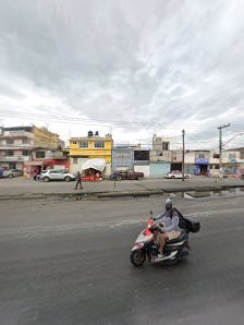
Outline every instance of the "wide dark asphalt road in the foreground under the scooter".
<path id="1" fill-rule="evenodd" d="M 175 201 L 202 221 L 188 261 L 139 269 L 161 198 L 0 202 L 0 324 L 243 325 L 243 197 Z"/>

